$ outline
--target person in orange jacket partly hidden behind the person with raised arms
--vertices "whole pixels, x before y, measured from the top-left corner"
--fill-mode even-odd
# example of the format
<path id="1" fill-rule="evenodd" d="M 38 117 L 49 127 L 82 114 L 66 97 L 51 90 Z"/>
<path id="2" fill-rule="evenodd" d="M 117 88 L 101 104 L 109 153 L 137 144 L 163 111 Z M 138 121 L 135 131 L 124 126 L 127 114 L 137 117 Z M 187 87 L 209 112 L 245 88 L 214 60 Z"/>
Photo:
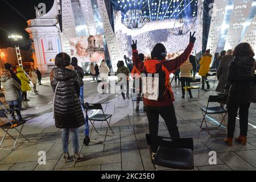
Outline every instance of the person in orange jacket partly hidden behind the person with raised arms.
<path id="1" fill-rule="evenodd" d="M 139 53 L 139 60 L 141 60 L 142 62 L 144 61 L 144 55 L 143 53 Z M 141 80 L 141 72 L 135 67 L 133 66 L 133 69 L 131 70 L 131 78 L 134 79 L 134 88 L 137 89 L 137 86 L 139 86 L 139 93 L 137 94 L 137 103 L 136 103 L 136 109 L 135 111 L 139 111 L 139 101 L 141 100 L 141 92 L 142 92 L 142 80 Z M 135 85 L 139 84 L 139 85 Z M 143 106 L 143 110 L 145 111 L 145 106 Z"/>

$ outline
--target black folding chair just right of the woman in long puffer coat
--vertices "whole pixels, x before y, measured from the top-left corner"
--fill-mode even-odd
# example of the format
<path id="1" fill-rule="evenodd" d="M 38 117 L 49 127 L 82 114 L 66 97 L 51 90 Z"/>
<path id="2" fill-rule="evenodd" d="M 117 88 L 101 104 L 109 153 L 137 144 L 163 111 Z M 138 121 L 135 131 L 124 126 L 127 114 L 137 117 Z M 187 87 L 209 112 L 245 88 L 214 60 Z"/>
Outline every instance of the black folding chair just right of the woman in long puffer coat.
<path id="1" fill-rule="evenodd" d="M 90 140 L 91 142 L 103 143 L 103 142 L 105 142 L 107 136 L 113 136 L 114 135 L 114 132 L 113 132 L 112 128 L 110 127 L 110 121 L 111 121 L 112 114 L 105 114 L 101 104 L 88 104 L 88 103 L 85 103 L 85 109 L 101 110 L 102 111 L 102 114 L 98 114 L 97 113 L 97 114 L 93 114 L 93 115 L 89 116 L 89 121 L 92 124 L 92 129 L 90 130 L 90 135 L 92 134 L 92 131 L 94 129 L 96 131 L 96 133 L 98 133 L 100 135 L 105 135 L 105 138 L 104 138 L 103 141 Z M 109 119 L 109 121 L 108 121 L 108 119 Z M 106 133 L 105 134 L 98 132 L 98 130 L 94 126 L 94 122 L 95 121 L 101 121 L 101 126 L 102 126 L 102 122 L 106 121 L 106 123 L 108 124 L 108 127 L 106 129 Z M 112 131 L 113 135 L 109 135 L 108 134 L 108 130 L 109 129 Z M 89 135 L 89 137 L 90 137 L 90 135 Z"/>

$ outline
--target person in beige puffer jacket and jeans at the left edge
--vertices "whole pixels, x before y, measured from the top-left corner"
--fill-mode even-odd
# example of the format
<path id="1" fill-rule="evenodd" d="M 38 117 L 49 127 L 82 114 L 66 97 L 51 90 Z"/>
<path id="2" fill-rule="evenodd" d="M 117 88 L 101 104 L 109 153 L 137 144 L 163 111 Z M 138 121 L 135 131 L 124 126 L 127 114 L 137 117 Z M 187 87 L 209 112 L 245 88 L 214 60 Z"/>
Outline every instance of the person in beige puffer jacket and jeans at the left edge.
<path id="1" fill-rule="evenodd" d="M 11 73 L 8 70 L 3 70 L 1 73 L 1 82 L 3 89 L 5 89 L 5 100 L 10 107 L 11 120 L 16 121 L 14 111 L 18 115 L 18 121 L 24 121 L 19 110 L 19 92 L 20 85 L 11 77 Z"/>

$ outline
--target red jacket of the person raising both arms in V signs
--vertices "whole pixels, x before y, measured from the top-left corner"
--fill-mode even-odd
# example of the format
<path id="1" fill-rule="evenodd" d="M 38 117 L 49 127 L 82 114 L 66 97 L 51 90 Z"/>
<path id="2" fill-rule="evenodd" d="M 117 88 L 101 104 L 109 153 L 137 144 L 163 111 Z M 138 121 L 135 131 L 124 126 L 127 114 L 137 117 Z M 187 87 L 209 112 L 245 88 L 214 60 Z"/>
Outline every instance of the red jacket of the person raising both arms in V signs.
<path id="1" fill-rule="evenodd" d="M 180 67 L 181 64 L 183 64 L 191 55 L 192 49 L 193 49 L 194 44 L 189 43 L 188 47 L 185 49 L 185 51 L 179 56 L 176 57 L 173 60 L 162 60 L 164 61 L 162 65 L 162 70 L 166 72 L 166 87 L 169 92 L 166 92 L 164 94 L 164 100 L 163 101 L 152 101 L 152 100 L 147 100 L 144 98 L 144 104 L 147 106 L 169 106 L 172 104 L 172 102 L 175 101 L 174 99 L 174 93 L 172 92 L 171 89 L 171 84 L 170 84 L 170 73 L 175 72 L 176 69 Z M 144 62 L 141 62 L 138 57 L 138 51 L 137 49 L 133 49 L 133 63 L 136 66 L 136 68 L 142 72 L 146 69 L 148 73 L 155 73 L 156 69 L 159 68 L 159 63 L 161 61 L 159 60 L 147 60 Z"/>

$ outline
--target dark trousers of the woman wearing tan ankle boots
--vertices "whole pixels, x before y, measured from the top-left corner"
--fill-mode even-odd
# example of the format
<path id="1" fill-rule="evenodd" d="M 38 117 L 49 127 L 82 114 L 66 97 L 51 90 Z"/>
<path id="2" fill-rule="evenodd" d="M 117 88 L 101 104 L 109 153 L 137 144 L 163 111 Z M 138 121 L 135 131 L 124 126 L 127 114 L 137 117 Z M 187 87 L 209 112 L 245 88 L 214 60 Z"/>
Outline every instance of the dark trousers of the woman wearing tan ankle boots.
<path id="1" fill-rule="evenodd" d="M 230 104 L 228 105 L 228 137 L 234 137 L 234 130 L 236 128 L 236 117 L 237 110 L 239 107 L 239 122 L 240 122 L 240 135 L 243 137 L 247 137 L 248 131 L 248 114 L 250 103 L 246 104 Z"/>

